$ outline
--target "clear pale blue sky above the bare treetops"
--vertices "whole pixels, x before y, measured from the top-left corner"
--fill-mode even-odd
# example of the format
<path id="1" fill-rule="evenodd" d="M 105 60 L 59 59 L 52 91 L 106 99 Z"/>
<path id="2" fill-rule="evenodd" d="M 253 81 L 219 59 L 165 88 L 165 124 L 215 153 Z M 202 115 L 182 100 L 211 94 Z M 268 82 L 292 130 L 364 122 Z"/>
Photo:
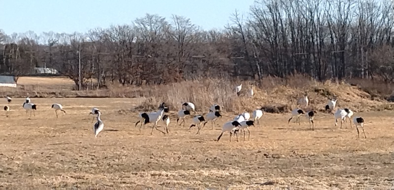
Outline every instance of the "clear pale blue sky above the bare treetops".
<path id="1" fill-rule="evenodd" d="M 254 0 L 0 0 L 0 29 L 6 34 L 87 32 L 130 24 L 146 13 L 185 16 L 204 30 L 222 29 L 238 10 L 245 16 Z"/>

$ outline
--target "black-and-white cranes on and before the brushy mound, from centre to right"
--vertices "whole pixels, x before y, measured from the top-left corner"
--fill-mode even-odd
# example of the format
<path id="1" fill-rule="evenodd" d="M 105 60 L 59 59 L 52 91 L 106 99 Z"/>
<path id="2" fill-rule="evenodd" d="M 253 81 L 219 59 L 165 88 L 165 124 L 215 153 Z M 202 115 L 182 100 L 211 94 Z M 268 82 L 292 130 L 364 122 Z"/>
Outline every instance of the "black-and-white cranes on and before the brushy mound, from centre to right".
<path id="1" fill-rule="evenodd" d="M 253 85 L 252 88 L 250 89 L 248 96 L 252 97 L 254 95 L 254 91 L 253 91 Z M 237 96 L 240 95 L 240 91 L 242 89 L 242 84 L 239 86 L 235 86 L 234 91 L 236 92 Z M 335 106 L 336 106 L 336 102 L 337 99 L 332 100 L 329 99 L 328 100 L 328 104 L 325 106 L 326 111 L 329 111 L 331 114 L 334 115 L 335 118 L 335 126 L 337 126 L 337 121 L 338 119 L 340 119 L 341 121 L 341 126 L 340 128 L 342 128 L 342 124 L 343 122 L 346 122 L 346 118 L 348 118 L 350 120 L 350 126 L 352 127 L 352 120 L 351 117 L 353 116 L 353 111 L 351 111 L 348 108 L 344 108 L 344 109 L 338 109 L 335 111 Z M 139 120 L 137 121 L 137 123 L 135 123 L 135 126 L 137 126 L 138 123 L 140 123 L 140 128 L 142 127 L 142 124 L 145 125 L 147 123 L 154 123 L 152 126 L 152 132 L 153 129 L 157 129 L 157 124 L 158 122 L 161 120 L 162 116 L 163 118 L 165 117 L 165 130 L 166 133 L 168 133 L 168 123 L 169 123 L 169 116 L 167 114 L 167 111 L 164 111 L 164 103 L 161 104 L 161 106 L 159 107 L 159 111 L 158 112 L 152 112 L 152 113 L 140 113 L 139 114 Z M 297 101 L 297 105 L 299 106 L 304 106 L 305 108 L 309 105 L 309 99 L 307 97 L 307 93 L 305 92 L 304 96 L 302 98 L 300 98 Z M 208 114 L 206 115 L 195 115 L 193 117 L 193 119 L 191 120 L 191 125 L 189 127 L 189 129 L 191 129 L 192 127 L 197 126 L 197 134 L 199 134 L 200 129 L 201 129 L 201 125 L 202 127 L 205 126 L 206 123 L 211 122 L 211 129 L 213 129 L 213 123 L 215 122 L 215 120 L 219 117 L 222 117 L 222 115 L 220 114 L 220 106 L 217 104 L 214 104 L 211 106 L 211 108 L 209 108 L 208 110 Z M 335 112 L 334 112 L 335 111 Z M 191 115 L 191 112 L 197 113 L 196 112 L 196 106 L 191 103 L 191 102 L 185 102 L 182 104 L 182 109 L 178 111 L 177 114 L 177 119 L 176 122 L 178 123 L 180 120 L 181 122 L 179 123 L 179 125 L 185 126 L 185 117 L 188 115 Z M 304 112 L 302 109 L 296 108 L 295 110 L 292 111 L 292 116 L 289 118 L 288 120 L 288 124 L 290 123 L 290 121 L 296 117 L 296 122 L 298 122 L 298 124 L 300 125 L 300 116 L 301 115 L 305 115 L 305 117 L 308 119 L 309 121 L 309 128 L 311 130 L 315 129 L 315 123 L 314 123 L 314 118 L 315 115 L 317 114 L 316 111 L 312 110 L 309 112 Z M 230 120 L 226 123 L 223 124 L 222 126 L 222 132 L 218 137 L 218 141 L 220 140 L 220 138 L 222 137 L 224 132 L 230 132 L 230 141 L 231 141 L 231 136 L 232 134 L 235 134 L 237 136 L 237 132 L 239 131 L 243 131 L 244 133 L 244 140 L 245 140 L 245 136 L 246 136 L 246 131 L 248 131 L 248 136 L 249 136 L 249 140 L 250 140 L 250 130 L 249 127 L 250 126 L 255 126 L 255 122 L 257 124 L 260 124 L 260 118 L 263 116 L 263 110 L 262 109 L 257 109 L 252 113 L 252 117 L 249 113 L 245 112 L 239 115 L 236 115 L 233 120 Z M 163 119 L 164 121 L 164 119 Z M 359 131 L 359 127 L 361 127 L 362 132 L 364 134 L 364 138 L 366 138 L 365 136 L 365 132 L 363 129 L 363 123 L 364 123 L 364 119 L 362 117 L 355 117 L 353 118 L 353 123 L 356 125 L 356 129 L 357 129 L 357 133 L 358 133 L 358 137 L 360 137 L 360 131 Z M 347 127 L 346 127 L 347 128 Z M 157 129 L 159 130 L 159 129 Z M 160 130 L 159 130 L 160 131 Z M 152 134 L 151 132 L 151 134 Z M 163 132 L 163 131 L 162 131 Z M 164 133 L 164 132 L 163 132 Z M 165 133 L 164 133 L 165 134 Z M 242 133 L 241 133 L 242 136 Z M 238 141 L 238 137 L 237 137 L 237 141 Z"/>

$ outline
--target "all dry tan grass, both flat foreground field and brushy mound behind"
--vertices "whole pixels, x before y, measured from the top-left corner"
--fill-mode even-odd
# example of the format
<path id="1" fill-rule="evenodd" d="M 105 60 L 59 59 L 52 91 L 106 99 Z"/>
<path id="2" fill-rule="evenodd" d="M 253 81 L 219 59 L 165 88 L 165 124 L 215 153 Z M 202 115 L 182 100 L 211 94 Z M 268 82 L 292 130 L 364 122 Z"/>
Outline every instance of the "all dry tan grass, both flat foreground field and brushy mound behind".
<path id="1" fill-rule="evenodd" d="M 112 85 L 98 91 L 71 91 L 74 83 L 62 77 L 20 77 L 18 88 L 1 88 L 10 95 L 11 111 L 0 112 L 0 188 L 18 189 L 350 189 L 394 187 L 393 104 L 343 83 L 319 83 L 306 78 L 282 81 L 265 78 L 256 96 L 236 97 L 238 82 L 199 79 L 175 84 L 142 87 Z M 373 83 L 369 84 L 374 86 Z M 383 86 L 384 87 L 384 86 Z M 381 87 L 381 88 L 383 88 Z M 244 87 L 248 90 L 248 85 Z M 328 96 L 339 98 L 365 119 L 366 139 L 334 126 L 332 115 L 319 113 L 316 129 L 301 117 L 301 125 L 287 124 L 291 97 L 308 91 L 310 109 L 320 110 Z M 373 90 L 371 90 L 373 91 Z M 37 105 L 31 119 L 22 108 L 30 96 Z M 136 97 L 136 98 L 72 98 Z M 41 97 L 41 98 L 39 98 Z M 56 98 L 57 97 L 57 98 Z M 68 98 L 63 98 L 68 97 Z M 151 98 L 146 98 L 151 97 Z M 374 96 L 375 97 L 375 96 Z M 212 103 L 223 106 L 223 117 L 196 135 L 176 125 L 182 101 L 194 102 L 199 114 Z M 138 111 L 156 109 L 159 102 L 171 109 L 169 134 L 134 127 Z M 51 104 L 63 104 L 67 114 L 56 118 Z M 0 105 L 6 104 L 5 98 Z M 251 127 L 251 140 L 225 133 L 221 126 L 236 113 L 271 106 L 261 125 Z M 90 110 L 102 112 L 104 130 L 93 134 Z M 267 108 L 268 108 L 267 107 Z M 269 108 L 271 109 L 271 108 Z M 386 110 L 386 111 L 377 111 Z M 202 112 L 201 112 L 202 111 Z M 369 112 L 373 111 L 373 112 Z M 163 126 L 162 123 L 159 125 Z M 362 135 L 362 134 L 361 134 Z"/>

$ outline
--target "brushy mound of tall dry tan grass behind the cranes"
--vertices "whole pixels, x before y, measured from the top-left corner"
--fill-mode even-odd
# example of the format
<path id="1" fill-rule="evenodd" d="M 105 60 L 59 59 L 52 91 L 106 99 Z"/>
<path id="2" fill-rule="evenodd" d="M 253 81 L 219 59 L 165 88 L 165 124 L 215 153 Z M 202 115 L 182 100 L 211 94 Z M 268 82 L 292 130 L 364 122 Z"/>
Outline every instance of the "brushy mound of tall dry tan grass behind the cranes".
<path id="1" fill-rule="evenodd" d="M 233 92 L 235 85 L 242 83 L 241 95 Z M 323 112 L 328 98 L 337 97 L 337 107 L 347 107 L 356 112 L 393 110 L 394 104 L 384 99 L 372 97 L 357 86 L 345 82 L 324 83 L 304 76 L 293 76 L 287 79 L 266 77 L 255 83 L 255 95 L 249 99 L 247 94 L 251 83 L 241 81 L 223 81 L 220 79 L 201 78 L 183 81 L 170 85 L 155 85 L 140 89 L 140 96 L 145 101 L 137 107 L 140 111 L 155 110 L 157 105 L 165 102 L 171 109 L 180 109 L 183 102 L 193 102 L 197 110 L 207 112 L 217 103 L 227 112 L 252 112 L 263 107 L 268 113 L 286 113 L 297 107 L 296 101 L 304 92 L 308 93 L 310 106 L 306 109 Z"/>

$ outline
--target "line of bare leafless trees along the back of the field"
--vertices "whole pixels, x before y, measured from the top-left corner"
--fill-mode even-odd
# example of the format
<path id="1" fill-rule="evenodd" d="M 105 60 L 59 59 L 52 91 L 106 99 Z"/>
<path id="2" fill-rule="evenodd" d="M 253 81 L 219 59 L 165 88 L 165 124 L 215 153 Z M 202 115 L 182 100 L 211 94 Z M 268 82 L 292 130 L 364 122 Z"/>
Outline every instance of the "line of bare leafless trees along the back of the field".
<path id="1" fill-rule="evenodd" d="M 195 77 L 347 77 L 392 82 L 391 0 L 256 0 L 224 30 L 146 14 L 87 33 L 0 33 L 0 73 L 57 69 L 75 84 L 161 84 Z M 80 49 L 80 52 L 79 52 Z"/>

